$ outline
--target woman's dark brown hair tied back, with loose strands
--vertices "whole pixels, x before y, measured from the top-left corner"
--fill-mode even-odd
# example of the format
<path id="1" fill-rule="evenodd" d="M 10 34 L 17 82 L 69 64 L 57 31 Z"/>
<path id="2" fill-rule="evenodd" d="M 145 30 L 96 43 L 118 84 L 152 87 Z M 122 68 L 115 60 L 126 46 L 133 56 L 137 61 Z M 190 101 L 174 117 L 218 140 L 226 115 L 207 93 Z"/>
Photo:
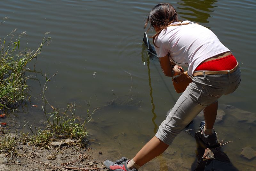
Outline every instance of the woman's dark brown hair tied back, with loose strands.
<path id="1" fill-rule="evenodd" d="M 156 37 L 161 33 L 163 29 L 166 29 L 171 23 L 179 21 L 176 10 L 171 4 L 164 3 L 156 5 L 149 13 L 148 19 L 145 23 L 144 29 L 148 26 L 149 28 L 157 26 L 159 28 L 156 34 L 153 36 L 153 44 L 155 44 Z M 147 32 L 148 32 L 147 30 Z M 157 46 L 156 46 L 157 47 Z"/>

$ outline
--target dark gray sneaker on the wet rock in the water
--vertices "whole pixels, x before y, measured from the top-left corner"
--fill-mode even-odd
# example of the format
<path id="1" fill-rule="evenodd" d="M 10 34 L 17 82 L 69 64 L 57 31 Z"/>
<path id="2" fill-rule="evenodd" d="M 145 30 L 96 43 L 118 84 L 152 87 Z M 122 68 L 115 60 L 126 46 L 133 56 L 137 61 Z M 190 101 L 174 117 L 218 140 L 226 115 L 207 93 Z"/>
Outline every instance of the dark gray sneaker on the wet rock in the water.
<path id="1" fill-rule="evenodd" d="M 205 135 L 204 134 L 204 125 L 205 125 L 204 121 L 200 123 L 200 126 L 199 126 L 200 131 L 196 132 L 196 136 L 199 139 L 201 139 L 208 148 L 215 148 L 215 147 L 220 146 L 220 142 L 217 139 L 215 130 L 213 130 L 212 135 Z"/>

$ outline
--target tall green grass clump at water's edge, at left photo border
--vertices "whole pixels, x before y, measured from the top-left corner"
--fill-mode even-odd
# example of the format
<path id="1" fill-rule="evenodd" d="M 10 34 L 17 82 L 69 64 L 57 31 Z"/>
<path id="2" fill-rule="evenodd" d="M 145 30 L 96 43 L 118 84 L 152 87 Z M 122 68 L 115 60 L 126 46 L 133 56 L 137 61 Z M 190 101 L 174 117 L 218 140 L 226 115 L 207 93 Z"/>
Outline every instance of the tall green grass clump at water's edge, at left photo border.
<path id="1" fill-rule="evenodd" d="M 5 38 L 0 38 L 0 110 L 14 108 L 23 100 L 28 99 L 27 77 L 25 76 L 27 63 L 36 58 L 41 52 L 41 48 L 50 37 L 43 38 L 42 43 L 36 50 L 30 50 L 26 47 L 20 51 L 20 38 L 25 32 L 21 33 L 15 40 L 12 31 Z M 8 43 L 6 40 L 11 36 Z"/>

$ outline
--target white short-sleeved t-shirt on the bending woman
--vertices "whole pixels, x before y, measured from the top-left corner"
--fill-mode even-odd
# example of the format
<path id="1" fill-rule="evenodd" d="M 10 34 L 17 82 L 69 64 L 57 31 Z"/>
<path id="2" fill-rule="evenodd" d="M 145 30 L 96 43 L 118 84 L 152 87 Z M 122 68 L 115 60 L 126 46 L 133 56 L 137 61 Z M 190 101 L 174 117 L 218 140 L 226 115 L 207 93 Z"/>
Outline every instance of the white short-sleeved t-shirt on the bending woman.
<path id="1" fill-rule="evenodd" d="M 190 21 L 182 23 L 186 22 Z M 204 60 L 223 52 L 231 52 L 211 30 L 193 22 L 182 26 L 167 27 L 156 37 L 155 44 L 159 47 L 155 47 L 158 57 L 169 54 L 172 62 L 180 66 L 188 66 L 190 76 Z"/>

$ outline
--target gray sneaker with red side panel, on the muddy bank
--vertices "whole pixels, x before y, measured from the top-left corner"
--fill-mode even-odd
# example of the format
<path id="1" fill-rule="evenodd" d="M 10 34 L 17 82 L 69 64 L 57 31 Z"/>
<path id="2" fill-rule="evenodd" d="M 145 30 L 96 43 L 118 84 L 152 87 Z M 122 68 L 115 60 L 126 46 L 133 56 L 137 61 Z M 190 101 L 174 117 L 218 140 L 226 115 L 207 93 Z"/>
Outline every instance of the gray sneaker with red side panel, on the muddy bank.
<path id="1" fill-rule="evenodd" d="M 104 165 L 108 168 L 110 171 L 138 171 L 137 169 L 128 169 L 127 163 L 129 160 L 127 160 L 125 157 L 122 157 L 119 160 L 116 160 L 116 162 L 112 162 L 109 160 L 104 161 Z"/>

